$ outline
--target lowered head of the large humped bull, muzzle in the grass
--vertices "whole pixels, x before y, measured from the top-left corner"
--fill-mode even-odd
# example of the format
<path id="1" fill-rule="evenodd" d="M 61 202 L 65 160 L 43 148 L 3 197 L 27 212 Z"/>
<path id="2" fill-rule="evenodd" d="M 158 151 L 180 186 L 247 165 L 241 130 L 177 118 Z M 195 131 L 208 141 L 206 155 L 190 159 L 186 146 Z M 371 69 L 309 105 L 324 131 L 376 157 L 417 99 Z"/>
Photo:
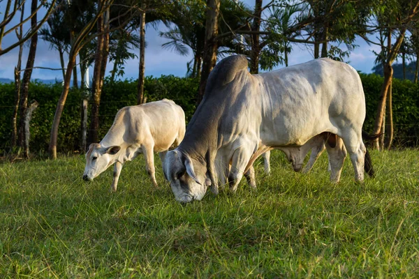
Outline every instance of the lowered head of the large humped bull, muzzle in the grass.
<path id="1" fill-rule="evenodd" d="M 201 200 L 211 186 L 211 180 L 206 178 L 205 162 L 176 149 L 166 154 L 163 172 L 178 202 Z"/>

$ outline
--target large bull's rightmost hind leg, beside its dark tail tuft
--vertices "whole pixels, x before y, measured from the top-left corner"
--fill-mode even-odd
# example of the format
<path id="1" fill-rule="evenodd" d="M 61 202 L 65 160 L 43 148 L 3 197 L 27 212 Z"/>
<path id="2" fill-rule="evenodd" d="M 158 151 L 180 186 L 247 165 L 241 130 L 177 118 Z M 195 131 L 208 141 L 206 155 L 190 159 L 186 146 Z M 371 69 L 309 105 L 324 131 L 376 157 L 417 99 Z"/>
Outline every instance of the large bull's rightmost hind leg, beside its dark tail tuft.
<path id="1" fill-rule="evenodd" d="M 342 138 L 355 170 L 355 181 L 362 183 L 364 181 L 365 153 L 367 149 L 365 149 L 365 145 L 362 142 L 361 131 L 356 133 L 354 130 L 351 130 L 348 135 Z"/>

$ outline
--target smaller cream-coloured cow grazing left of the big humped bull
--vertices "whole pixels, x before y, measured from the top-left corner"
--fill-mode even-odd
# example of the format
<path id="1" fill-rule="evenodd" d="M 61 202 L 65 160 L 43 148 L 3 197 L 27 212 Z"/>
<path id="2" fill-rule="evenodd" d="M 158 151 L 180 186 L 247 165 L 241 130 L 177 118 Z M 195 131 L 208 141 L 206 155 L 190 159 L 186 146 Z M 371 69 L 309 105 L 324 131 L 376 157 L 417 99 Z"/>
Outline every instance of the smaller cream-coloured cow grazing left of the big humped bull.
<path id="1" fill-rule="evenodd" d="M 116 191 L 122 165 L 143 153 L 147 172 L 157 187 L 154 152 L 159 152 L 163 163 L 170 146 L 178 146 L 184 133 L 184 111 L 172 100 L 124 107 L 103 140 L 90 144 L 83 179 L 93 180 L 115 163 L 111 190 Z"/>

